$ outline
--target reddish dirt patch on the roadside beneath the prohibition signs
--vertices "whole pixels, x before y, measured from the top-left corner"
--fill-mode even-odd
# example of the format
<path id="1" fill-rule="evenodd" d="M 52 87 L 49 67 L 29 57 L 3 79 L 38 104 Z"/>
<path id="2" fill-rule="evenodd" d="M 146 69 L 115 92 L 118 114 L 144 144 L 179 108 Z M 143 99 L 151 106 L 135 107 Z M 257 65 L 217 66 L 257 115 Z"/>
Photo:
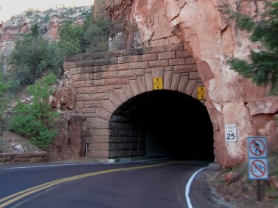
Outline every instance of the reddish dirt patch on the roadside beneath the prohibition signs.
<path id="1" fill-rule="evenodd" d="M 272 158 L 276 159 L 276 157 Z M 270 159 L 269 164 L 277 168 Z M 272 169 L 271 168 L 271 169 Z M 276 170 L 278 171 L 278 170 Z M 278 177 L 271 173 L 269 180 L 250 180 L 247 164 L 231 170 L 204 171 L 203 186 L 208 187 L 208 198 L 220 207 L 235 208 L 274 208 L 278 207 Z"/>

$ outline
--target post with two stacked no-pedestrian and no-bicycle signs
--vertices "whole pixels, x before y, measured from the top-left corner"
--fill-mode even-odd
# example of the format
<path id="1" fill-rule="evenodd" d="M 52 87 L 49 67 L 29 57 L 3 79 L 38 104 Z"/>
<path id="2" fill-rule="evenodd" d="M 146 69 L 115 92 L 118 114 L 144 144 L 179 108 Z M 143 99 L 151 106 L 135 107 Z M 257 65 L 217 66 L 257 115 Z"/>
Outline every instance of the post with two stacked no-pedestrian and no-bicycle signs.
<path id="1" fill-rule="evenodd" d="M 268 179 L 268 153 L 265 137 L 248 137 L 248 173 L 250 180 L 258 180 L 258 201 L 260 201 L 260 180 Z"/>

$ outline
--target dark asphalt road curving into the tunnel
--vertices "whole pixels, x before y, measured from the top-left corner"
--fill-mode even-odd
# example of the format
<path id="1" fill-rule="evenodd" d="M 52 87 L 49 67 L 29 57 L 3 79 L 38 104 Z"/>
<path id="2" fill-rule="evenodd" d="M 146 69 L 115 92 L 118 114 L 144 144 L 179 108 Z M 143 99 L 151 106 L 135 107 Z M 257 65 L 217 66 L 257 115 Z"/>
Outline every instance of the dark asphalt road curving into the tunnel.
<path id="1" fill-rule="evenodd" d="M 194 185 L 186 198 L 190 177 L 206 166 L 170 160 L 0 166 L 0 207 L 213 207 Z"/>

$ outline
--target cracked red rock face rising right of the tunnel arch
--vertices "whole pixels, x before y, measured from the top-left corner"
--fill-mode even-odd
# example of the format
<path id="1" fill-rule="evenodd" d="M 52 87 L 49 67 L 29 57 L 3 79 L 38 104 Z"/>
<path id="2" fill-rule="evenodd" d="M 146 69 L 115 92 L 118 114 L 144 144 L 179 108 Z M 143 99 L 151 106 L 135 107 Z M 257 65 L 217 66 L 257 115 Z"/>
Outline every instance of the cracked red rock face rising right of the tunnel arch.
<path id="1" fill-rule="evenodd" d="M 227 65 L 231 56 L 247 58 L 250 42 L 245 31 L 225 12 L 238 10 L 259 19 L 265 1 L 234 0 L 106 0 L 114 21 L 110 44 L 140 48 L 183 43 L 197 62 L 206 87 L 206 107 L 214 131 L 215 162 L 230 167 L 247 161 L 247 137 L 267 137 L 277 150 L 274 121 L 278 98 L 257 87 Z M 120 30 L 122 29 L 122 30 Z M 225 125 L 236 124 L 237 141 L 225 141 Z"/>

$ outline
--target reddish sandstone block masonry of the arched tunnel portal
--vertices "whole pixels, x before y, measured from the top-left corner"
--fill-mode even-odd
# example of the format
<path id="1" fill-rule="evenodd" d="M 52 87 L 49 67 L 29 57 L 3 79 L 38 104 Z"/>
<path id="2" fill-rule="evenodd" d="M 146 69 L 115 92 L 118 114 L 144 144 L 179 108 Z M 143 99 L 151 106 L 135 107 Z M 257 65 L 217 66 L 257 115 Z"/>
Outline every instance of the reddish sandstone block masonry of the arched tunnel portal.
<path id="1" fill-rule="evenodd" d="M 154 90 L 153 78 L 163 78 L 163 89 L 194 98 L 197 87 L 203 86 L 183 44 L 70 55 L 63 67 L 76 89 L 74 110 L 87 118 L 88 157 L 101 161 L 145 154 L 144 138 L 134 133 L 137 127 L 117 125 L 125 139 L 119 139 L 121 132 L 113 137 L 111 117 L 130 98 Z"/>

